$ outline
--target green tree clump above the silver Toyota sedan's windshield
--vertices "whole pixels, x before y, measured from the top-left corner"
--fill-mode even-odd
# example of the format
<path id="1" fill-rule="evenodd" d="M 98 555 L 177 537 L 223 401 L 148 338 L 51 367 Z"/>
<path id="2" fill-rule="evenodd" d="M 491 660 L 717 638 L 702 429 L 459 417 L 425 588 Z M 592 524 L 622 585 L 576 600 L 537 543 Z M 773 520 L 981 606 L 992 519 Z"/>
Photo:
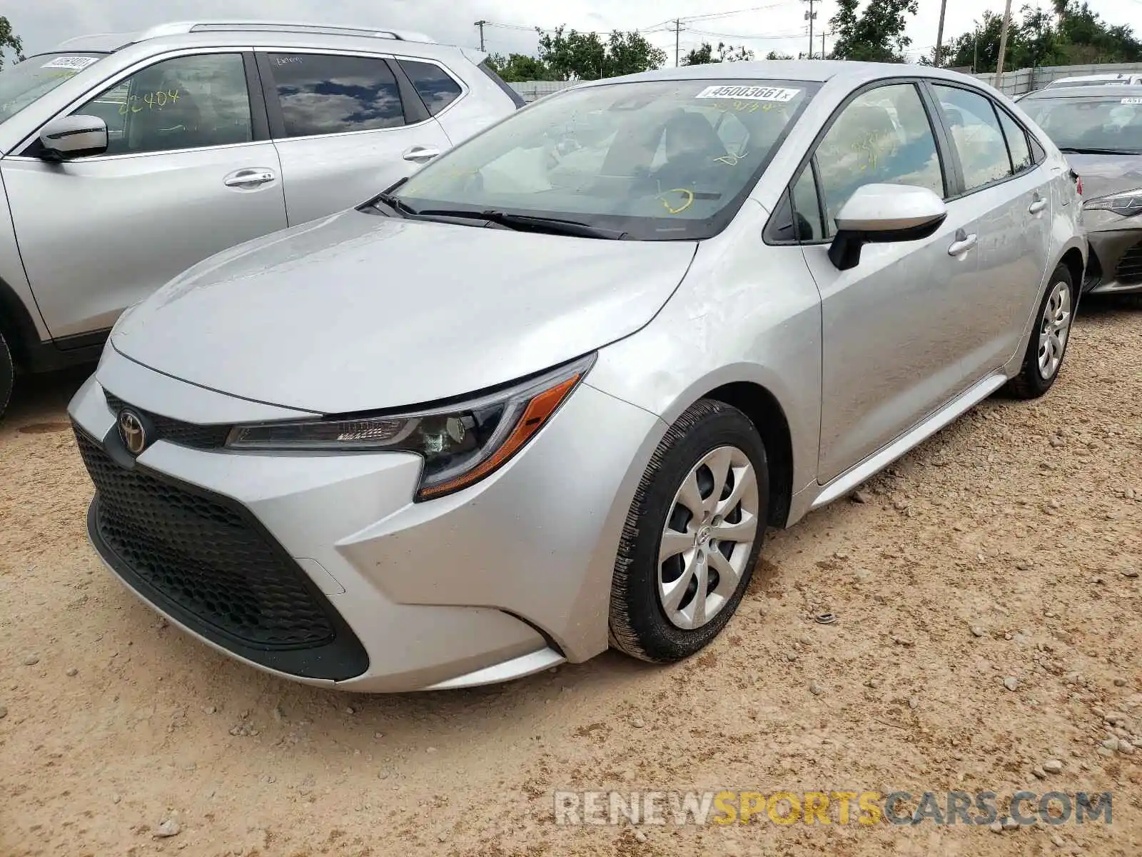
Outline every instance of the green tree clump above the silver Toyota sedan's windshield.
<path id="1" fill-rule="evenodd" d="M 612 32 L 604 42 L 597 33 L 566 31 L 558 26 L 539 32 L 539 61 L 555 80 L 598 80 L 658 69 L 666 51 L 637 32 Z"/>

